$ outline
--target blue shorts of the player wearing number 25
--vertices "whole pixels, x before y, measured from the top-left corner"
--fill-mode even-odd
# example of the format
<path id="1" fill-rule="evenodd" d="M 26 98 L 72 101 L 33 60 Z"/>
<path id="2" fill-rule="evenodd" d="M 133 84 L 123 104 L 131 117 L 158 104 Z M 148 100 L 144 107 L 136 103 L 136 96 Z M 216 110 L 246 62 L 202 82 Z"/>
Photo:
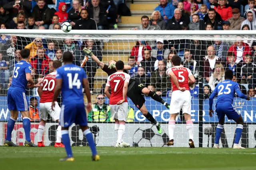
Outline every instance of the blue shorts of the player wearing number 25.
<path id="1" fill-rule="evenodd" d="M 236 121 L 240 117 L 240 113 L 236 110 L 236 107 L 230 104 L 216 105 L 216 112 L 219 121 L 225 118 L 225 115 L 229 120 Z"/>

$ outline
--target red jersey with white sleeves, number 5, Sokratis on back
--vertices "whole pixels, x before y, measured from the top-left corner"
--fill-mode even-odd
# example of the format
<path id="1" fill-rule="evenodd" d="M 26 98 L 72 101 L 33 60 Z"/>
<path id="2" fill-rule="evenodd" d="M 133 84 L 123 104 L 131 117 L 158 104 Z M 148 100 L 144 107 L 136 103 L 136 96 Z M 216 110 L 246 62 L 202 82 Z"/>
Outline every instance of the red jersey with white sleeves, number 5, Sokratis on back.
<path id="1" fill-rule="evenodd" d="M 186 68 L 186 67 L 180 67 L 180 66 L 175 66 L 175 67 L 172 67 L 170 69 L 168 69 L 166 71 L 166 74 L 169 75 L 170 71 L 172 71 L 177 79 L 178 79 L 178 83 L 179 83 L 179 86 L 180 87 L 185 87 L 186 90 L 189 90 L 189 86 L 188 86 L 188 77 L 190 75 L 192 75 L 190 69 Z M 171 77 L 170 77 L 171 79 Z M 171 79 L 172 81 L 172 79 Z M 176 91 L 176 90 L 179 90 L 176 85 L 173 83 L 172 81 L 172 91 Z"/>

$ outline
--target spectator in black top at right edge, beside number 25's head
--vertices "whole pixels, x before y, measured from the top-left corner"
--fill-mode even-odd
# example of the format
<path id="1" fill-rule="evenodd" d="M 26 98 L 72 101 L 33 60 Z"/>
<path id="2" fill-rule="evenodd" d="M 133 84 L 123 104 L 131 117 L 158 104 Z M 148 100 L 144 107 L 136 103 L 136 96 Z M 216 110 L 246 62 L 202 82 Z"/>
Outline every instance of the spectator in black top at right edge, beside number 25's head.
<path id="1" fill-rule="evenodd" d="M 256 69 L 256 64 L 252 63 L 252 57 L 249 54 L 244 56 L 244 65 L 241 68 L 241 77 L 242 83 L 252 85 L 252 79 L 256 77 L 252 77 L 255 73 L 254 70 Z"/>

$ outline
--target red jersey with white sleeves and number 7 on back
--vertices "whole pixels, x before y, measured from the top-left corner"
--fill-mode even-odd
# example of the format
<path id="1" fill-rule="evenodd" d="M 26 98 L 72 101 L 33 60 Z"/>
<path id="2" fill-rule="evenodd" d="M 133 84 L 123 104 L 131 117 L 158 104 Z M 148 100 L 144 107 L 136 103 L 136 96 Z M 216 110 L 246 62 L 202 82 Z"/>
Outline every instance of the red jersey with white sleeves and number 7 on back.
<path id="1" fill-rule="evenodd" d="M 106 86 L 111 87 L 111 95 L 109 99 L 110 105 L 116 105 L 118 101 L 123 99 L 123 87 L 125 81 L 129 83 L 130 75 L 124 72 L 116 72 L 108 77 Z M 127 102 L 127 98 L 125 98 L 124 102 Z"/>

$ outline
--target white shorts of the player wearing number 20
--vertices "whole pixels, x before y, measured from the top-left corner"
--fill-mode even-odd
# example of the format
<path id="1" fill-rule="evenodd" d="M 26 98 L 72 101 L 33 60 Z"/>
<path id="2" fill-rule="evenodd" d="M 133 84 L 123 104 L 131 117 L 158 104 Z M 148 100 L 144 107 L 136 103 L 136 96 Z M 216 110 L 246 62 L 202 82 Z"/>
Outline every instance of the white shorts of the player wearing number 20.
<path id="1" fill-rule="evenodd" d="M 57 102 L 55 102 L 55 109 L 52 110 L 52 102 L 40 103 L 40 118 L 47 121 L 48 114 L 52 117 L 54 121 L 60 119 L 60 107 Z"/>

